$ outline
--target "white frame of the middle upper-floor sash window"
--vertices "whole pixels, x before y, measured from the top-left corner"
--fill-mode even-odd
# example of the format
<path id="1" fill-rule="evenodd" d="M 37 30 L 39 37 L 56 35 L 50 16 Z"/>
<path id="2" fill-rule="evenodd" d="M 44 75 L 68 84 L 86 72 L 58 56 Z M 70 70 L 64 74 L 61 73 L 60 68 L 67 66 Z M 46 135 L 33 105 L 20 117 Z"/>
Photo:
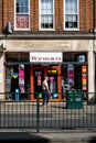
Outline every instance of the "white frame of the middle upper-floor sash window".
<path id="1" fill-rule="evenodd" d="M 47 0 L 46 0 L 47 1 Z M 40 11 L 39 11 L 39 28 L 40 28 L 40 31 L 54 31 L 55 30 L 55 12 L 54 12 L 54 0 L 53 0 L 53 29 L 42 29 L 41 28 L 41 0 L 39 2 L 39 8 L 40 8 Z M 49 15 L 49 14 L 47 14 Z"/>

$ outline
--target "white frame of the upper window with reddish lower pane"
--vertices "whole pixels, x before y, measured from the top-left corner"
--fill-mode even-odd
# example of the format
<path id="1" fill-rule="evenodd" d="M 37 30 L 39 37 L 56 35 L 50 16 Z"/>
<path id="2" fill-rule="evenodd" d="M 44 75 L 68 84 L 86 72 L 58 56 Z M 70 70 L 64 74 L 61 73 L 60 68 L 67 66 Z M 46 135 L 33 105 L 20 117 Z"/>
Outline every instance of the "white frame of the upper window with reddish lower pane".
<path id="1" fill-rule="evenodd" d="M 17 3 L 17 0 L 14 0 L 14 31 L 29 31 L 30 30 L 30 0 L 29 0 L 29 12 L 28 13 L 23 13 L 23 14 L 28 14 L 29 15 L 29 28 L 28 29 L 18 29 L 17 28 L 17 6 L 15 6 L 15 3 Z M 20 14 L 22 14 L 22 13 L 20 13 Z"/>

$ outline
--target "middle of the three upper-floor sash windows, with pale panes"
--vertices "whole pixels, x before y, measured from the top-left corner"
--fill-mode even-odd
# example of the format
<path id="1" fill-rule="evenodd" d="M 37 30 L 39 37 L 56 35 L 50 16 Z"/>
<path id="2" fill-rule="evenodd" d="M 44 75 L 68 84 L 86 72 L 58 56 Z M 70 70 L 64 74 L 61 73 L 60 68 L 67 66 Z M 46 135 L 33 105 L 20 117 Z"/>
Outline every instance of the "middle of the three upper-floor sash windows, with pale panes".
<path id="1" fill-rule="evenodd" d="M 54 29 L 54 0 L 40 0 L 40 29 Z"/>

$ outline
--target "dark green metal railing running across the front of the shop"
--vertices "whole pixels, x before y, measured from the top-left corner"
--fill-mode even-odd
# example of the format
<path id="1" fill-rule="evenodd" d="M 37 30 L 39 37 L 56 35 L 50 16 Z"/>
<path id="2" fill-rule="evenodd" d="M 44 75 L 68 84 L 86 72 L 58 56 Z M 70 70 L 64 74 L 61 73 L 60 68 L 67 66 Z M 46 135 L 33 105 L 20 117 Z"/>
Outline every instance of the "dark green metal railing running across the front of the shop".
<path id="1" fill-rule="evenodd" d="M 36 101 L 2 100 L 0 128 L 29 128 L 36 132 L 96 128 L 95 98 L 88 101 L 84 100 L 84 95 L 72 94 L 68 92 L 66 100 L 51 99 L 47 106 L 42 106 L 40 98 Z M 95 96 L 95 92 L 88 95 Z"/>

